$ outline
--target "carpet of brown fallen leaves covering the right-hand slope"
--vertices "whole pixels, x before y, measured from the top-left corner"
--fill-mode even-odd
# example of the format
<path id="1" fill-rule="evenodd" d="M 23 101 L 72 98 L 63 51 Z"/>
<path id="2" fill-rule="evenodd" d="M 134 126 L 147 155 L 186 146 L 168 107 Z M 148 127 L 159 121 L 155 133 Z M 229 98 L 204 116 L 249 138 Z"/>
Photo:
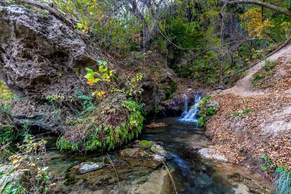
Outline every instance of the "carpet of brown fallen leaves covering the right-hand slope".
<path id="1" fill-rule="evenodd" d="M 275 136 L 262 129 L 262 126 L 272 122 L 272 117 L 280 113 L 280 109 L 291 106 L 291 97 L 284 93 L 291 88 L 290 65 L 288 70 L 287 66 L 282 64 L 281 68 L 287 72 L 275 86 L 268 89 L 271 91 L 269 95 L 242 97 L 225 93 L 212 96 L 212 100 L 219 103 L 219 108 L 207 123 L 206 134 L 216 145 L 210 154 L 222 154 L 231 163 L 239 164 L 269 154 L 273 163 L 291 168 L 291 140 L 288 135 L 291 129 L 282 130 L 283 133 Z M 234 111 L 246 109 L 252 112 L 239 120 L 229 116 Z"/>

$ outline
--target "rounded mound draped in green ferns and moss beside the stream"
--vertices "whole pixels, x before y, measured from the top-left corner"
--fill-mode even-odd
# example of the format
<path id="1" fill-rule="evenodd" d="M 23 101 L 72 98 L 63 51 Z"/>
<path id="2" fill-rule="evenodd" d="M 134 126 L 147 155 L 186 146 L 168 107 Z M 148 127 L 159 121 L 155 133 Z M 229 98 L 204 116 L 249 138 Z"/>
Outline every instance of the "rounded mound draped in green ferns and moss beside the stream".
<path id="1" fill-rule="evenodd" d="M 122 94 L 105 99 L 93 111 L 65 127 L 58 148 L 84 152 L 114 149 L 141 132 L 142 107 Z"/>

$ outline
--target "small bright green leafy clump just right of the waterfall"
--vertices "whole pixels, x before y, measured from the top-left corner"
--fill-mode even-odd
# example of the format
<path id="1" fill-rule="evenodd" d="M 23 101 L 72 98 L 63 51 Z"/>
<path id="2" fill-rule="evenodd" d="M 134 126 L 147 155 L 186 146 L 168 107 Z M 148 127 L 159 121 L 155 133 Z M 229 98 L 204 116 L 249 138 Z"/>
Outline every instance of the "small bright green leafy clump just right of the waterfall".
<path id="1" fill-rule="evenodd" d="M 207 106 L 210 104 L 210 98 L 211 96 L 205 96 L 203 99 L 200 100 L 200 103 L 198 104 L 199 111 L 198 116 L 199 119 L 197 121 L 198 124 L 201 126 L 204 126 L 207 122 L 207 120 L 215 115 L 215 113 L 218 110 L 218 106 L 216 104 Z"/>

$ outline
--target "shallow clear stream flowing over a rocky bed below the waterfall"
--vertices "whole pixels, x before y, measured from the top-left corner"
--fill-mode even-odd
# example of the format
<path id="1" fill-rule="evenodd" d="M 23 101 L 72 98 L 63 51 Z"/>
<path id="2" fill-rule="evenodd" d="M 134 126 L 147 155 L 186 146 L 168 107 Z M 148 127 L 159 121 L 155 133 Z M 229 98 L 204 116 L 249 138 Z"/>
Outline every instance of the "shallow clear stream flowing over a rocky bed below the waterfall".
<path id="1" fill-rule="evenodd" d="M 180 118 L 156 118 L 155 122 L 163 122 L 168 126 L 144 128 L 138 139 L 155 141 L 173 153 L 173 159 L 166 160 L 166 165 L 178 193 L 251 193 L 251 184 L 246 184 L 240 174 L 246 171 L 242 166 L 201 160 L 196 154 L 198 149 L 211 145 L 211 142 L 195 122 L 183 122 Z M 55 147 L 56 138 L 46 139 L 47 166 L 51 172 L 50 181 L 55 183 L 55 193 L 119 193 L 116 173 L 109 165 L 82 175 L 72 171 L 72 167 L 81 161 L 109 163 L 106 153 L 72 157 Z M 130 144 L 125 147 L 130 147 Z M 110 152 L 109 156 L 119 177 L 121 193 L 173 192 L 171 179 L 164 166 L 152 169 L 138 159 L 125 160 L 119 150 Z M 259 183 L 263 181 L 259 177 L 248 178 L 251 182 L 252 179 Z M 266 190 L 262 193 L 269 192 Z"/>

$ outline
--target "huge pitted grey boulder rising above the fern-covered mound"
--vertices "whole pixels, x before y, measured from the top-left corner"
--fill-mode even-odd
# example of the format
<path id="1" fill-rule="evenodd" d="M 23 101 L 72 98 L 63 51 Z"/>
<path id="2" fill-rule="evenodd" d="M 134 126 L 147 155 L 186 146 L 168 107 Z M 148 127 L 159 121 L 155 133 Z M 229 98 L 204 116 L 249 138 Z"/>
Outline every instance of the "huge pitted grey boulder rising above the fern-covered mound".
<path id="1" fill-rule="evenodd" d="M 40 13 L 40 14 L 39 14 Z M 173 72 L 162 68 L 159 83 L 139 65 L 116 61 L 100 51 L 88 37 L 70 29 L 46 11 L 38 14 L 24 6 L 0 6 L 0 76 L 19 98 L 13 102 L 12 118 L 15 124 L 28 123 L 44 129 L 60 128 L 60 117 L 65 119 L 71 107 L 63 113 L 54 109 L 47 97 L 58 95 L 58 100 L 70 104 L 77 98 L 76 91 L 91 95 L 94 89 L 106 88 L 105 83 L 86 84 L 86 67 L 98 70 L 98 61 L 107 61 L 107 67 L 119 78 L 120 86 L 129 76 L 142 72 L 138 87 L 143 90 L 141 103 L 145 111 L 154 112 L 166 99 L 168 82 Z M 138 62 L 137 62 L 138 63 Z M 125 71 L 126 70 L 126 71 Z M 162 86 L 159 84 L 162 83 Z M 69 98 L 69 99 L 68 99 Z"/>

